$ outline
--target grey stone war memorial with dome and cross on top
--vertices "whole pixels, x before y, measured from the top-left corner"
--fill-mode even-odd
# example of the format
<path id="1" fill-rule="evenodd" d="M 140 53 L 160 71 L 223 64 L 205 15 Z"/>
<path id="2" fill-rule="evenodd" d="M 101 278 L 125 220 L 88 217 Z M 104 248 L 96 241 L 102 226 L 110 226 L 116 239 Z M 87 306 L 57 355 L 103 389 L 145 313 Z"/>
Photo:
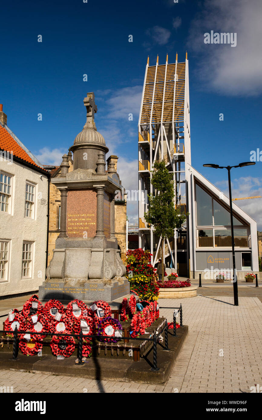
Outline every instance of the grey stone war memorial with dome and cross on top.
<path id="1" fill-rule="evenodd" d="M 70 147 L 73 171 L 64 155 L 61 173 L 51 179 L 61 192 L 60 229 L 39 288 L 42 300 L 112 302 L 130 293 L 114 234 L 114 199 L 123 187 L 112 165 L 106 172 L 109 149 L 96 130 L 94 98 L 87 93 L 87 121 Z"/>

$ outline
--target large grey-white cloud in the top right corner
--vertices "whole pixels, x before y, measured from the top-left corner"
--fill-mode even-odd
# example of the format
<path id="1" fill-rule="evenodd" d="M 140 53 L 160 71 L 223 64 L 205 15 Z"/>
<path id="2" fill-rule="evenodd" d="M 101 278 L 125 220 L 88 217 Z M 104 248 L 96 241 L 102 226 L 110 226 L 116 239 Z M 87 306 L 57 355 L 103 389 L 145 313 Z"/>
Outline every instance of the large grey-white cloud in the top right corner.
<path id="1" fill-rule="evenodd" d="M 204 33 L 237 33 L 237 45 L 204 44 Z M 225 95 L 262 92 L 261 0 L 204 0 L 191 22 L 188 48 L 198 60 L 203 88 Z"/>

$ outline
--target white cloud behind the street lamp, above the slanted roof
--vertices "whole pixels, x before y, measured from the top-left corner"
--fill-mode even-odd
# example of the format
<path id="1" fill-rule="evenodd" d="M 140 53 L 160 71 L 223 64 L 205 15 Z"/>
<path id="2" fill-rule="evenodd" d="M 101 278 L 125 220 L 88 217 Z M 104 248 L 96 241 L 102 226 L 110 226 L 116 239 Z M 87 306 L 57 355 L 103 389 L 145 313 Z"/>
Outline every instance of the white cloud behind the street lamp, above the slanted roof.
<path id="1" fill-rule="evenodd" d="M 228 181 L 219 181 L 215 185 L 228 197 Z M 254 197 L 262 195 L 262 178 L 241 177 L 231 181 L 232 197 Z M 257 222 L 257 230 L 262 231 L 262 198 L 234 201 Z"/>

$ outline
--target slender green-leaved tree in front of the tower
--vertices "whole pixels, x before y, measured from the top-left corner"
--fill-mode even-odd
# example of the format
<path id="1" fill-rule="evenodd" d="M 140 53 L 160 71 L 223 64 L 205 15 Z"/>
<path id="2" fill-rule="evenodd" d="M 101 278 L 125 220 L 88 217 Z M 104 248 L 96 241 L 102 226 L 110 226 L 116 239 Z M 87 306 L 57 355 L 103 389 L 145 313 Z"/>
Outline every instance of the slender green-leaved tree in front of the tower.
<path id="1" fill-rule="evenodd" d="M 174 236 L 175 228 L 180 228 L 189 213 L 180 214 L 174 206 L 174 181 L 168 172 L 164 160 L 153 165 L 151 184 L 156 195 L 148 194 L 147 223 L 153 225 L 156 236 L 161 238 L 162 281 L 164 281 L 164 240 Z"/>

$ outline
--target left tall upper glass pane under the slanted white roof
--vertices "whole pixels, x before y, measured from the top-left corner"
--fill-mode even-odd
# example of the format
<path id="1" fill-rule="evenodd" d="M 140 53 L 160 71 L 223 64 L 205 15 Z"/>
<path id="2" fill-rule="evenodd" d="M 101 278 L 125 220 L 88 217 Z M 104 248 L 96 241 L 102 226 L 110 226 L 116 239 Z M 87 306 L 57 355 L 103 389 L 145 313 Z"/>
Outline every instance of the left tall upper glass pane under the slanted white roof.
<path id="1" fill-rule="evenodd" d="M 196 217 L 198 226 L 212 226 L 212 197 L 196 185 Z"/>

